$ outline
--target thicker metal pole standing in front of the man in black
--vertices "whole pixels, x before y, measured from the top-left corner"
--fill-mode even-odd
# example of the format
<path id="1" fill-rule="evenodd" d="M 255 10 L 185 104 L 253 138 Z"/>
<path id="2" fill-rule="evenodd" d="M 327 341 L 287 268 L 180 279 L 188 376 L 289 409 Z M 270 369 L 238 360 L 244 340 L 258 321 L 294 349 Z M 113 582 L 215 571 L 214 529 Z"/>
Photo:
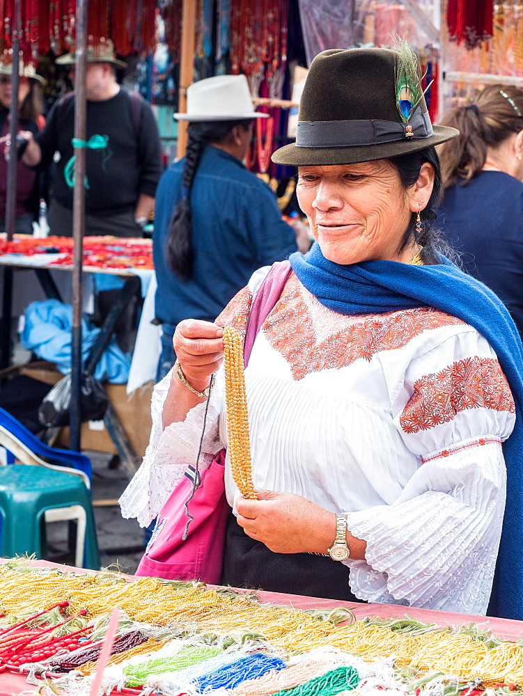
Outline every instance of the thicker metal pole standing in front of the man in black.
<path id="1" fill-rule="evenodd" d="M 87 45 L 87 3 L 77 0 L 76 44 L 75 44 L 75 139 L 86 139 L 86 45 Z M 72 364 L 71 364 L 71 406 L 69 446 L 72 450 L 81 448 L 81 310 L 82 310 L 82 263 L 84 260 L 84 231 L 86 190 L 86 150 L 75 148 L 75 188 L 72 201 L 72 237 L 75 242 L 72 269 Z"/>

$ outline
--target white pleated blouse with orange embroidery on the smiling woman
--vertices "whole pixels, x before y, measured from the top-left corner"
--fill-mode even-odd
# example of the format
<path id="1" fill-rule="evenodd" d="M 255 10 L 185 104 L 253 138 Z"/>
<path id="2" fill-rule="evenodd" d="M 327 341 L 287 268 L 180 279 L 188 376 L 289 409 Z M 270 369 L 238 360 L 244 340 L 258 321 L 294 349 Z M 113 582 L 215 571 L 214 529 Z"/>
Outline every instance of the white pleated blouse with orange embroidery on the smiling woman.
<path id="1" fill-rule="evenodd" d="M 244 330 L 260 269 L 220 319 Z M 201 438 L 199 404 L 162 432 L 170 374 L 153 394 L 143 464 L 120 499 L 148 525 Z M 304 496 L 348 515 L 367 542 L 347 560 L 366 601 L 484 614 L 506 495 L 501 442 L 515 409 L 497 357 L 460 319 L 432 308 L 345 316 L 294 274 L 267 317 L 246 370 L 256 488 Z M 227 445 L 223 367 L 201 466 Z M 226 462 L 226 495 L 239 492 Z"/>

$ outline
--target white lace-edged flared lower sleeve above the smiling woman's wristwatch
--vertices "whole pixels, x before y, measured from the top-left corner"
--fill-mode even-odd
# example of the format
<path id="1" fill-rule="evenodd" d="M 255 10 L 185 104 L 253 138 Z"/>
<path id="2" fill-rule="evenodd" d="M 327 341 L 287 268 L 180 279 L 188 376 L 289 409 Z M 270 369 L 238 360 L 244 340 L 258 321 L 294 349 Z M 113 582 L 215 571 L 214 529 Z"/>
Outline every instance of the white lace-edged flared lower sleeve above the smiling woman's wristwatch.
<path id="1" fill-rule="evenodd" d="M 348 514 L 350 532 L 367 542 L 365 561 L 346 562 L 352 591 L 366 601 L 439 610 L 451 601 L 484 613 L 505 503 L 501 446 L 449 453 L 416 478 L 408 500 L 409 487 L 394 505 Z"/>

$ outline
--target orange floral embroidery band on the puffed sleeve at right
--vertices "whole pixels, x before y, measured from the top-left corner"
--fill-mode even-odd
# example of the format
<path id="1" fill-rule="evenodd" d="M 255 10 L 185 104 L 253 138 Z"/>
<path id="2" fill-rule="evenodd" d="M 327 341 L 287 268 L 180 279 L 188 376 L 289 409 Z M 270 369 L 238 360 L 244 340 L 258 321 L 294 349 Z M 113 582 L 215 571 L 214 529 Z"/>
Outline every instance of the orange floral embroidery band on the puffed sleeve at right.
<path id="1" fill-rule="evenodd" d="M 469 409 L 515 412 L 506 377 L 495 358 L 465 358 L 421 377 L 400 416 L 406 433 L 450 422 Z"/>

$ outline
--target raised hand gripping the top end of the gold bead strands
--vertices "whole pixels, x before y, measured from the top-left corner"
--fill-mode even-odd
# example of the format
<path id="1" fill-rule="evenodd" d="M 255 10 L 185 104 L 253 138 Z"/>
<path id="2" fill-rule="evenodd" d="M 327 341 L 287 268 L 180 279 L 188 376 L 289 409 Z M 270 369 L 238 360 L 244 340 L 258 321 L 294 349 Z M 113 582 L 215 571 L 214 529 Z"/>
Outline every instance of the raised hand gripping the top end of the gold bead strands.
<path id="1" fill-rule="evenodd" d="M 184 319 L 176 326 L 173 347 L 185 379 L 198 391 L 209 386 L 224 357 L 221 326 L 199 319 Z"/>

